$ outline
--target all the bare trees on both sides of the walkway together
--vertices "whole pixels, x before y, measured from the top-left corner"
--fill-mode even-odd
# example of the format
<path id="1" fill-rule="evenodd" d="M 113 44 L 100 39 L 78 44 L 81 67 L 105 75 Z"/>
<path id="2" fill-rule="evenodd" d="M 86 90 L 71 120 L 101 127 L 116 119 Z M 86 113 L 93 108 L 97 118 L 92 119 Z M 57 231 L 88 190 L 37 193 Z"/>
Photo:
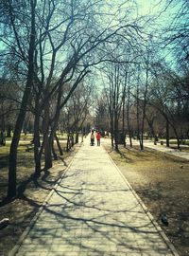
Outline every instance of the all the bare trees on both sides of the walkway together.
<path id="1" fill-rule="evenodd" d="M 178 4 L 165 2 L 165 11 Z M 145 133 L 155 139 L 165 134 L 167 145 L 174 133 L 178 147 L 180 138 L 188 137 L 188 22 L 180 21 L 187 16 L 186 0 L 163 31 L 152 31 L 154 17 L 136 15 L 132 0 L 8 0 L 0 2 L 0 10 L 1 129 L 13 128 L 9 198 L 16 195 L 22 130 L 30 123 L 39 176 L 42 155 L 44 169 L 52 167 L 52 155 L 57 158 L 54 140 L 62 154 L 58 130 L 69 134 L 67 148 L 74 133 L 78 140 L 90 116 L 94 83 L 104 83 L 95 119 L 100 129 L 111 131 L 115 149 L 120 130 L 123 141 L 129 134 L 130 146 L 137 136 L 141 149 Z M 167 46 L 174 64 L 164 59 Z"/>

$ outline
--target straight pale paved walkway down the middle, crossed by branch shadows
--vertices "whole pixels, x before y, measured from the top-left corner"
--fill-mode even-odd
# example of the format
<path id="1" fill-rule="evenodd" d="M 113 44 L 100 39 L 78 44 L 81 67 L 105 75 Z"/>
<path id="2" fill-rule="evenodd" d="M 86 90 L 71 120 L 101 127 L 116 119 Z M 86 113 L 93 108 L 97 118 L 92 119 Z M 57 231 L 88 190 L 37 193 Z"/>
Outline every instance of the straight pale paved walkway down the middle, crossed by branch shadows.
<path id="1" fill-rule="evenodd" d="M 178 255 L 142 205 L 103 147 L 87 138 L 9 255 Z"/>

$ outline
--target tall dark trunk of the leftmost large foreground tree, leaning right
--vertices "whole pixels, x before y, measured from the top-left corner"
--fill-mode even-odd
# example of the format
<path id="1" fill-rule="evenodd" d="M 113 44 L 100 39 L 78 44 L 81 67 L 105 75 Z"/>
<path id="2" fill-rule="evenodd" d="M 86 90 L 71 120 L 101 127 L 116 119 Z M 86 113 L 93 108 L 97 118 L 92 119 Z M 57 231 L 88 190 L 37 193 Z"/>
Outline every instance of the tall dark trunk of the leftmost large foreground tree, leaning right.
<path id="1" fill-rule="evenodd" d="M 23 128 L 23 123 L 26 117 L 26 106 L 30 97 L 31 87 L 33 85 L 34 74 L 34 51 L 35 51 L 35 4 L 31 0 L 31 32 L 29 39 L 28 49 L 28 72 L 26 80 L 26 88 L 24 91 L 23 99 L 21 102 L 21 108 L 16 120 L 14 128 L 14 134 L 12 137 L 10 149 L 9 149 L 9 184 L 8 184 L 8 197 L 16 196 L 16 165 L 17 165 L 17 149 L 18 143 Z"/>

